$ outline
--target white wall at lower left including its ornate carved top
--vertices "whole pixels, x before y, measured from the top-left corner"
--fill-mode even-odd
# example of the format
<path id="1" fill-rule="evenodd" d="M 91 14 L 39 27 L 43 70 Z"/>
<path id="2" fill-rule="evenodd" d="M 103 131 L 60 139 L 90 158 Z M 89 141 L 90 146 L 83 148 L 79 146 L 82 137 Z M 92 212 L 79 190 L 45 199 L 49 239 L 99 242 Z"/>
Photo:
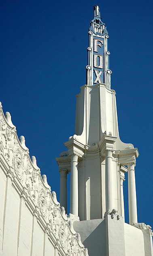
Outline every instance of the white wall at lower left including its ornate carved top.
<path id="1" fill-rule="evenodd" d="M 0 255 L 87 256 L 71 218 L 0 104 Z"/>

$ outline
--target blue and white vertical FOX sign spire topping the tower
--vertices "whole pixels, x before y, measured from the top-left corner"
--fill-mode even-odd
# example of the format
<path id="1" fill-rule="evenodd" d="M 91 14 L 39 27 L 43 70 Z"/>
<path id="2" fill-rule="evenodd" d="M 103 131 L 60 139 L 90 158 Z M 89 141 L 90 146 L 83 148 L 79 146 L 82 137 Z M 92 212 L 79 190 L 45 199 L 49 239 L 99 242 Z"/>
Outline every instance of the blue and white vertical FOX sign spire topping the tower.
<path id="1" fill-rule="evenodd" d="M 87 85 L 104 83 L 110 89 L 109 55 L 107 50 L 108 32 L 100 17 L 100 7 L 94 6 L 94 19 L 89 27 L 89 47 L 87 58 Z"/>

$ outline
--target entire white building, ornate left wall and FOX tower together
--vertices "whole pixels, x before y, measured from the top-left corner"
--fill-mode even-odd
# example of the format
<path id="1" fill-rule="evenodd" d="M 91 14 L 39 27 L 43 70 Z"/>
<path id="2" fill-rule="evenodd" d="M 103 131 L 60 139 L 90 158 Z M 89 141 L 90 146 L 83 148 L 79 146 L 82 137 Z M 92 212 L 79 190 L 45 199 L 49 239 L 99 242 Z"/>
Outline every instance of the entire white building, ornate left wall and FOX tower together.
<path id="1" fill-rule="evenodd" d="M 46 176 L 41 176 L 36 158 L 30 159 L 24 137 L 18 139 L 10 113 L 4 116 L 0 104 L 2 256 L 153 256 L 151 227 L 137 223 L 134 166 L 138 149 L 119 139 L 115 91 L 110 89 L 108 35 L 98 6 L 94 14 L 87 85 L 77 95 L 75 134 L 65 142 L 68 150 L 56 158 L 60 203 Z M 124 222 L 126 172 L 130 224 Z"/>

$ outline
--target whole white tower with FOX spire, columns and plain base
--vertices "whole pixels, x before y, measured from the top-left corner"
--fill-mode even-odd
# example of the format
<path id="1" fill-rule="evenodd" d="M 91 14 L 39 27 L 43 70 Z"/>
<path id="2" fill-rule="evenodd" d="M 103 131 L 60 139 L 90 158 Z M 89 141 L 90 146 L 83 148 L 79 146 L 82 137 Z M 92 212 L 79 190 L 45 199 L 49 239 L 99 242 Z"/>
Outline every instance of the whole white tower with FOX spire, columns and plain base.
<path id="1" fill-rule="evenodd" d="M 75 134 L 56 158 L 60 204 L 90 256 L 153 256 L 152 230 L 137 223 L 135 170 L 138 149 L 119 138 L 115 91 L 110 87 L 108 32 L 94 6 L 89 28 L 86 85 L 77 95 Z M 129 224 L 124 222 L 123 181 L 128 172 Z M 80 220 L 80 221 L 79 221 Z"/>

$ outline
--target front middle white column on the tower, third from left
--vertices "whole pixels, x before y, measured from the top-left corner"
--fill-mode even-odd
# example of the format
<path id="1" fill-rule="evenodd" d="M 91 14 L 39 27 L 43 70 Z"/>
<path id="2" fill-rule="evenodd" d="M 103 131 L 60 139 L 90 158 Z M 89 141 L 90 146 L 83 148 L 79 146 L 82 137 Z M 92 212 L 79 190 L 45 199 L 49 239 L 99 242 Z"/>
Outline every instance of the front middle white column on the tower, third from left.
<path id="1" fill-rule="evenodd" d="M 105 151 L 106 211 L 113 209 L 112 150 Z"/>

